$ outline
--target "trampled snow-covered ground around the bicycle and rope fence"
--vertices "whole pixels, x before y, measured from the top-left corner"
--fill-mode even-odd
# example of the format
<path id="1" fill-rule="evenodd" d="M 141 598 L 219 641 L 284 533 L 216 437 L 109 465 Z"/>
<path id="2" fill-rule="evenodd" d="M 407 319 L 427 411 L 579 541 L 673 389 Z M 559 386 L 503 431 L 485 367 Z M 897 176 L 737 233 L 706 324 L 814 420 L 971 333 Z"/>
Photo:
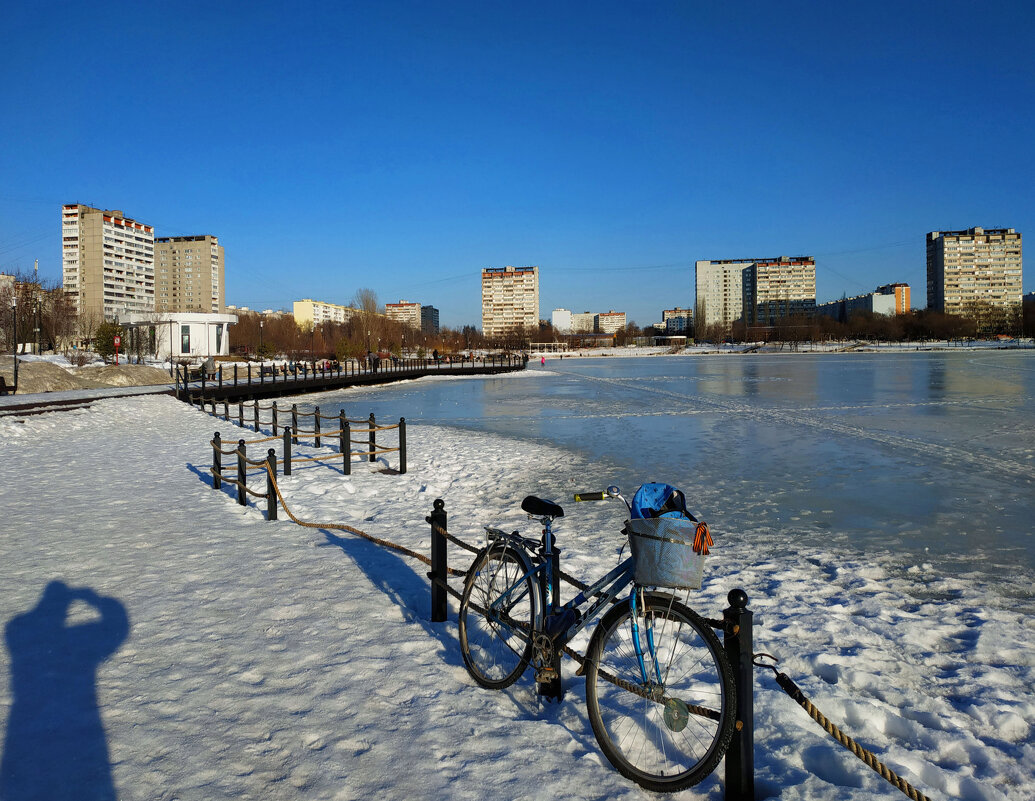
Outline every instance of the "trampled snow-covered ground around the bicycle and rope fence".
<path id="1" fill-rule="evenodd" d="M 0 418 L 0 798 L 650 795 L 600 754 L 570 662 L 560 706 L 530 677 L 477 687 L 455 615 L 430 622 L 424 565 L 213 491 L 214 431 L 239 436 L 166 396 Z M 566 507 L 566 570 L 616 563 L 621 508 L 565 502 L 602 488 L 580 483 L 572 453 L 419 424 L 408 444 L 403 476 L 296 466 L 289 505 L 427 553 L 436 498 L 473 541 L 486 523 L 529 533 L 519 503 L 540 494 Z M 1035 797 L 1035 619 L 1009 597 L 922 564 L 904 575 L 832 548 L 723 550 L 716 534 L 691 604 L 716 617 L 730 588 L 761 590 L 756 650 L 831 720 L 933 798 Z M 72 590 L 45 598 L 53 582 Z M 755 709 L 759 798 L 899 797 L 768 673 Z M 721 799 L 721 766 L 676 797 Z"/>

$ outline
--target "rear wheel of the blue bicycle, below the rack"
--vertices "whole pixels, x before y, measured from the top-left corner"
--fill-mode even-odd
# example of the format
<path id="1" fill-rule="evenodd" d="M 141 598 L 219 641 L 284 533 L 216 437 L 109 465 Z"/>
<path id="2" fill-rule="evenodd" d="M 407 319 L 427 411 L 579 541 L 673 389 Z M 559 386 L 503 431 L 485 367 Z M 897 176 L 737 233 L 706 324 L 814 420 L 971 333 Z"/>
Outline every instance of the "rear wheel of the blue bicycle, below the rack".
<path id="1" fill-rule="evenodd" d="M 528 576 L 530 569 L 524 554 L 491 545 L 475 557 L 464 581 L 460 650 L 468 673 L 482 687 L 509 687 L 531 661 L 536 584 Z M 490 612 L 511 587 L 504 602 Z"/>

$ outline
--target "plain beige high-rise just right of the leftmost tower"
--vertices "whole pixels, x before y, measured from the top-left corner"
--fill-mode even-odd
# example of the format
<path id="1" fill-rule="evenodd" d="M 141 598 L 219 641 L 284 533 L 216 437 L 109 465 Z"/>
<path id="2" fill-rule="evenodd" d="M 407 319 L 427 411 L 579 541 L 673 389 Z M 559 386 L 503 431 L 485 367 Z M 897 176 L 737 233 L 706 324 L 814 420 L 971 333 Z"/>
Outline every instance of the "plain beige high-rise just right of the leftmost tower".
<path id="1" fill-rule="evenodd" d="M 154 308 L 221 315 L 226 257 L 218 237 L 167 236 L 154 240 Z"/>

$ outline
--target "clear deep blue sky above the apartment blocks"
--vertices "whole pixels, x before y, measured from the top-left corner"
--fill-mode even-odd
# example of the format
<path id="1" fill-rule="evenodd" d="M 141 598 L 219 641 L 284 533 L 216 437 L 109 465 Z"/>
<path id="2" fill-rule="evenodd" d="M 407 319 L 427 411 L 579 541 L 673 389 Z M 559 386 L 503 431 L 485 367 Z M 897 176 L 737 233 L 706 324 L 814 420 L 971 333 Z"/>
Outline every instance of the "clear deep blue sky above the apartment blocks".
<path id="1" fill-rule="evenodd" d="M 693 262 L 816 257 L 820 302 L 924 234 L 1035 236 L 1028 2 L 16 3 L 0 271 L 60 206 L 214 234 L 228 302 L 437 306 L 540 268 L 540 317 L 693 302 Z M 1030 248 L 1029 248 L 1030 249 Z M 1028 259 L 1025 291 L 1035 290 Z"/>

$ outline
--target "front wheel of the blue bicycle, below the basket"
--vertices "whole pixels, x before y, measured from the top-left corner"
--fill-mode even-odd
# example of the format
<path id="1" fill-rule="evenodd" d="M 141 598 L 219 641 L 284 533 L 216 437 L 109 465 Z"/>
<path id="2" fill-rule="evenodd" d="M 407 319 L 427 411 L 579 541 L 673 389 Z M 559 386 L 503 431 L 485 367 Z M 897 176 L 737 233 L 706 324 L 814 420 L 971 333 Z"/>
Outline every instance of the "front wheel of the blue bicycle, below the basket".
<path id="1" fill-rule="evenodd" d="M 672 596 L 642 593 L 635 617 L 629 603 L 603 617 L 586 656 L 593 734 L 623 776 L 673 792 L 715 769 L 733 737 L 733 670 L 697 613 Z"/>

